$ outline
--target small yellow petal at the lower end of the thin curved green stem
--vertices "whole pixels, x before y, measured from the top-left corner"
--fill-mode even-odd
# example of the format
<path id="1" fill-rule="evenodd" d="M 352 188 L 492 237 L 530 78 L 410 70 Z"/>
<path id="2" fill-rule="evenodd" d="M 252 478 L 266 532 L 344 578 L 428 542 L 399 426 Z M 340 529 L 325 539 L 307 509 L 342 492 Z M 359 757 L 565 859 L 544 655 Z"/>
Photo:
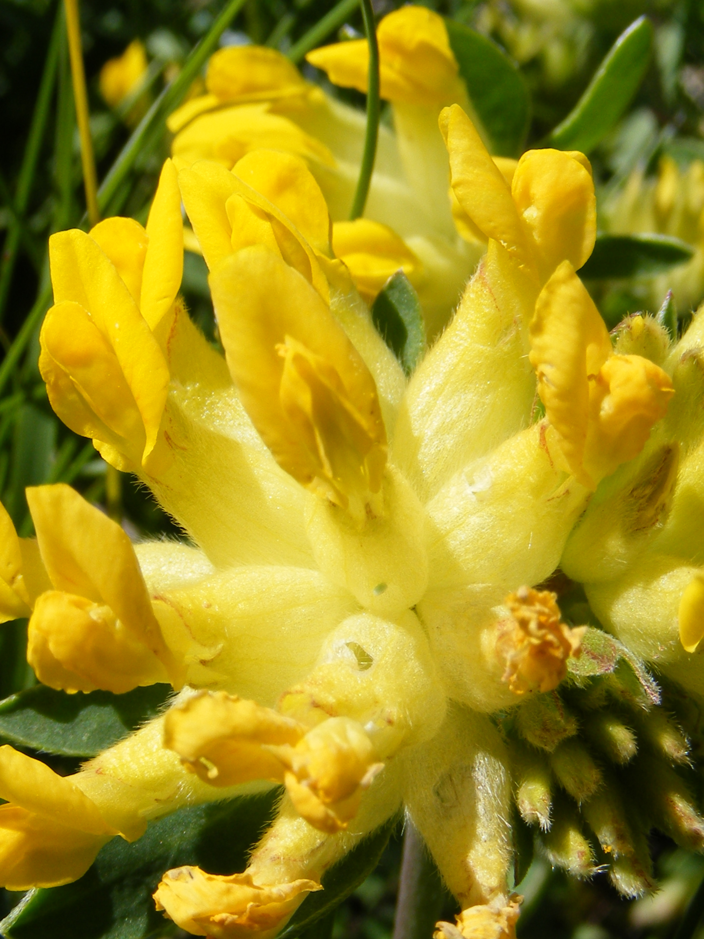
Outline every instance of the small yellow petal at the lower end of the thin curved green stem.
<path id="1" fill-rule="evenodd" d="M 336 222 L 332 250 L 346 264 L 361 296 L 368 303 L 397 270 L 413 281 L 422 269 L 418 257 L 388 225 L 371 219 Z"/>

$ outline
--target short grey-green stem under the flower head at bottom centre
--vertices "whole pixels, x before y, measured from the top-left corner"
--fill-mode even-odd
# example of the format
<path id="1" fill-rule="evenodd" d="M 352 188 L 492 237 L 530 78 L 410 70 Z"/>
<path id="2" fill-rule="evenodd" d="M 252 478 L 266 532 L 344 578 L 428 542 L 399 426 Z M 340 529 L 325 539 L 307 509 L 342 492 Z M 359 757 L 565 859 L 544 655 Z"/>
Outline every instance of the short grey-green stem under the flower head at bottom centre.
<path id="1" fill-rule="evenodd" d="M 416 826 L 406 819 L 392 939 L 430 939 L 442 911 L 443 886 Z"/>

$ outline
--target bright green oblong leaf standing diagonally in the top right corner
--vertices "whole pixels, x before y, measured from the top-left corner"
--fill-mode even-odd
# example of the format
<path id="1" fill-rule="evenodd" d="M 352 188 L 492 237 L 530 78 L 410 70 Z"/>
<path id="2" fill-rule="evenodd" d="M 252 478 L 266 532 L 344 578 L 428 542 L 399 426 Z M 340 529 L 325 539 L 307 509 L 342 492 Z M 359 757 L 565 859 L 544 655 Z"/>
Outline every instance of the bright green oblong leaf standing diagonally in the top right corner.
<path id="1" fill-rule="evenodd" d="M 621 33 L 573 110 L 548 138 L 549 146 L 589 153 L 633 100 L 650 62 L 652 24 L 641 16 Z"/>

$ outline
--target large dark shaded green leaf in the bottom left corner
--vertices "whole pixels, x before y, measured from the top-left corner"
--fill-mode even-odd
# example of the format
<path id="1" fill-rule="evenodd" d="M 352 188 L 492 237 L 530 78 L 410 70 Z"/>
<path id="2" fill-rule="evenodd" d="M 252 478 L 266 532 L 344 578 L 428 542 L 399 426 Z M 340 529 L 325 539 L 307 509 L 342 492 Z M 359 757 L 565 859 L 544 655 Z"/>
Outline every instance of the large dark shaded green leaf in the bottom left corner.
<path id="1" fill-rule="evenodd" d="M 224 803 L 181 808 L 148 825 L 141 839 L 109 841 L 74 884 L 30 890 L 0 923 L 6 939 L 145 939 L 168 920 L 152 894 L 165 870 L 197 865 L 208 873 L 244 870 L 268 824 L 278 789 Z"/>

